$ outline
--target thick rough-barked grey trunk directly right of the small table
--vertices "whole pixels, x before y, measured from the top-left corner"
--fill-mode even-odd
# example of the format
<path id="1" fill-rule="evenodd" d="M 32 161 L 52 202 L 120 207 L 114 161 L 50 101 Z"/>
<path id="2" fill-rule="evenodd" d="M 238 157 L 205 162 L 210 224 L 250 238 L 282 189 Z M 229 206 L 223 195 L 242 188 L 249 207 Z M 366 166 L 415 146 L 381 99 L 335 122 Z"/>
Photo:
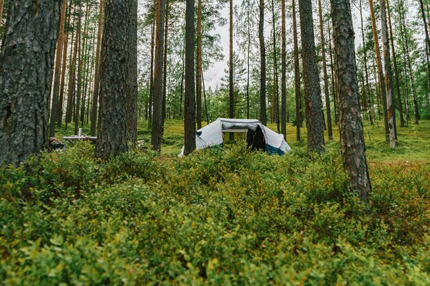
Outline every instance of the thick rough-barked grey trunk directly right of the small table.
<path id="1" fill-rule="evenodd" d="M 102 159 L 127 151 L 127 35 L 130 1 L 107 0 L 104 10 L 100 61 L 100 116 L 95 145 L 95 156 Z"/>

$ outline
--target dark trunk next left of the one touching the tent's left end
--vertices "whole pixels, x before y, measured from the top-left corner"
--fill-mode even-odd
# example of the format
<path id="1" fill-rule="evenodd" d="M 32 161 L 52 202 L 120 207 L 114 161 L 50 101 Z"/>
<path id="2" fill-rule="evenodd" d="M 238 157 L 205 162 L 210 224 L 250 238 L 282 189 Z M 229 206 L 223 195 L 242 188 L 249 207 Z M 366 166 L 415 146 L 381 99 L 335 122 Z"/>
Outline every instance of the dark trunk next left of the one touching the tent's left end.
<path id="1" fill-rule="evenodd" d="M 163 136 L 163 49 L 164 49 L 164 13 L 166 1 L 157 1 L 157 32 L 155 36 L 155 69 L 154 69 L 154 110 L 152 114 L 152 148 L 161 152 Z"/>

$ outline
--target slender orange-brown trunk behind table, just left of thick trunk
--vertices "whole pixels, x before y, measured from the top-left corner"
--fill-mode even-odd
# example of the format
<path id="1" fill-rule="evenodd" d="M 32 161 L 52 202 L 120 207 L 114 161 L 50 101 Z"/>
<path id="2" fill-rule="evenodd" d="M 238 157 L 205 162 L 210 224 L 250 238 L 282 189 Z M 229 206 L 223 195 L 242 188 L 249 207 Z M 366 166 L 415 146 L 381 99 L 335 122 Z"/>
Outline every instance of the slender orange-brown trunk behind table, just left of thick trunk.
<path id="1" fill-rule="evenodd" d="M 97 106 L 100 92 L 100 50 L 102 45 L 102 23 L 103 23 L 103 7 L 104 1 L 100 0 L 98 12 L 98 32 L 97 32 L 97 47 L 95 48 L 95 71 L 94 71 L 94 88 L 93 88 L 93 106 L 91 108 L 91 136 L 95 136 L 95 127 L 97 123 Z"/>

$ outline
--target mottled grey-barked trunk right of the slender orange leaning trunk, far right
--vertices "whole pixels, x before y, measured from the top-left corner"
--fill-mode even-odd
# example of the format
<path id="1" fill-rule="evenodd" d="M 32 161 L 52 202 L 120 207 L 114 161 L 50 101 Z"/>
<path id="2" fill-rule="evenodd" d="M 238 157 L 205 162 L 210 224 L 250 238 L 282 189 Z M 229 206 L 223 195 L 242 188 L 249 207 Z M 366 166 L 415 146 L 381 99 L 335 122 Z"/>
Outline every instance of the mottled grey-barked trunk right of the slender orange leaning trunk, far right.
<path id="1" fill-rule="evenodd" d="M 381 33 L 382 33 L 382 47 L 384 53 L 384 68 L 385 68 L 385 86 L 387 87 L 387 121 L 389 130 L 389 146 L 392 148 L 396 147 L 396 134 L 394 125 L 394 108 L 392 106 L 392 94 L 393 94 L 393 77 L 391 69 L 391 57 L 389 54 L 389 39 L 388 39 L 388 28 L 387 28 L 387 13 L 385 11 L 385 0 L 380 1 L 381 4 Z"/>

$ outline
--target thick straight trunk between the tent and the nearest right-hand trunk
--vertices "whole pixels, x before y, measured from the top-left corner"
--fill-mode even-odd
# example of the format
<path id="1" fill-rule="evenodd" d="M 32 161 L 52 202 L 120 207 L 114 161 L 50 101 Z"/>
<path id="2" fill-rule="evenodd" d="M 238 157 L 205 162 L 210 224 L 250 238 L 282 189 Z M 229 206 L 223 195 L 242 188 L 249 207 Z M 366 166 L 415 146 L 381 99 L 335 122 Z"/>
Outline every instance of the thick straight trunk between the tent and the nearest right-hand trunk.
<path id="1" fill-rule="evenodd" d="M 308 151 L 321 153 L 324 152 L 324 114 L 322 112 L 321 91 L 319 88 L 319 75 L 315 54 L 311 1 L 299 0 L 299 10 Z"/>

